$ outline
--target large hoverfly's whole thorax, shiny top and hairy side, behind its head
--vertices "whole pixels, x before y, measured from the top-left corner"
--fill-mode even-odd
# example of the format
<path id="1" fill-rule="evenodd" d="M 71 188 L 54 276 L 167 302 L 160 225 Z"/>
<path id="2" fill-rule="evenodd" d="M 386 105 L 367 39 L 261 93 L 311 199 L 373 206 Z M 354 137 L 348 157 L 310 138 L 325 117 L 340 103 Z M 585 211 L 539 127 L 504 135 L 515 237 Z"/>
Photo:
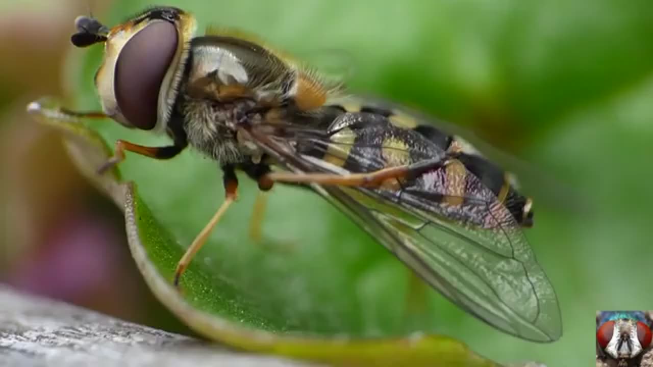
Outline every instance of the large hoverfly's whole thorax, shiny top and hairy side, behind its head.
<path id="1" fill-rule="evenodd" d="M 300 116 L 293 99 L 300 80 L 300 69 L 261 44 L 225 34 L 195 37 L 176 102 L 189 144 L 222 165 L 257 163 L 263 153 L 236 125 L 253 110 L 263 112 L 246 116 L 247 123 Z"/>

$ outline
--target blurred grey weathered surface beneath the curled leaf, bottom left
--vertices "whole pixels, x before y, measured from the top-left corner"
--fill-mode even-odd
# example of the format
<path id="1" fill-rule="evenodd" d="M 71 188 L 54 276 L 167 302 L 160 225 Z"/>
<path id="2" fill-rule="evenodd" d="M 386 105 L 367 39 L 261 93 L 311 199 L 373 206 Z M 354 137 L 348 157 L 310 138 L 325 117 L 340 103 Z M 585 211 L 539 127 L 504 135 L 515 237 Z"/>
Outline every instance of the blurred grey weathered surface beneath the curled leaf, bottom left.
<path id="1" fill-rule="evenodd" d="M 0 367 L 308 366 L 232 351 L 0 285 Z"/>

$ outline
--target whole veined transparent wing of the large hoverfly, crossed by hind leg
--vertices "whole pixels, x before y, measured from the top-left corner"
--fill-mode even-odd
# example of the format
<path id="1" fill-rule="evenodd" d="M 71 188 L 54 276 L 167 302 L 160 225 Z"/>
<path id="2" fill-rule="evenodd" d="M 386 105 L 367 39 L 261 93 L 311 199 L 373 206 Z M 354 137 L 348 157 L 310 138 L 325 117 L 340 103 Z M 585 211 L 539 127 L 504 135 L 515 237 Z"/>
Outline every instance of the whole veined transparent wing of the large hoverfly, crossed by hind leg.
<path id="1" fill-rule="evenodd" d="M 325 140 L 318 131 L 300 130 L 253 136 L 281 166 L 296 173 L 346 174 L 329 163 L 333 159 L 353 159 L 361 167 L 381 164 L 364 154 L 352 155 L 347 146 L 351 139 L 339 143 Z M 298 144 L 310 144 L 329 157 L 299 155 Z M 439 173 L 426 172 L 421 180 L 437 180 Z M 557 340 L 562 334 L 558 301 L 520 227 L 478 178 L 467 172 L 464 180 L 464 197 L 423 184 L 394 191 L 311 187 L 454 304 L 520 338 Z M 456 198 L 460 200 L 451 200 Z"/>

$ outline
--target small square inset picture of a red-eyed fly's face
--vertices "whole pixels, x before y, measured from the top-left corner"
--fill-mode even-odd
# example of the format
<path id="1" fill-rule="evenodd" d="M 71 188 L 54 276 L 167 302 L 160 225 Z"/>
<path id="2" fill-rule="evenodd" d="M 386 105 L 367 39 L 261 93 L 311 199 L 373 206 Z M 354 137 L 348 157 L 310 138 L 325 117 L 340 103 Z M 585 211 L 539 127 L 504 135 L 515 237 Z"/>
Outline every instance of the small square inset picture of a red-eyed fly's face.
<path id="1" fill-rule="evenodd" d="M 597 311 L 597 367 L 653 367 L 653 311 Z"/>

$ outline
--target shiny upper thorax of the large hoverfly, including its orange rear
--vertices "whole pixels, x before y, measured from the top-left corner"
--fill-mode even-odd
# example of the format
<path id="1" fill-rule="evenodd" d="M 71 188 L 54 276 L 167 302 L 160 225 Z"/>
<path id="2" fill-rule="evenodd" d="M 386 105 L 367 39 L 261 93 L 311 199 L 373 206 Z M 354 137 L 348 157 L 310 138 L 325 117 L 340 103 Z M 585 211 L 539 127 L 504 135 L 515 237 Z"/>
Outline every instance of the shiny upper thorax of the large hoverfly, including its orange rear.
<path id="1" fill-rule="evenodd" d="M 261 107 L 323 106 L 332 89 L 317 76 L 256 42 L 229 34 L 196 37 L 191 43 L 187 93 L 230 101 L 249 98 Z"/>

